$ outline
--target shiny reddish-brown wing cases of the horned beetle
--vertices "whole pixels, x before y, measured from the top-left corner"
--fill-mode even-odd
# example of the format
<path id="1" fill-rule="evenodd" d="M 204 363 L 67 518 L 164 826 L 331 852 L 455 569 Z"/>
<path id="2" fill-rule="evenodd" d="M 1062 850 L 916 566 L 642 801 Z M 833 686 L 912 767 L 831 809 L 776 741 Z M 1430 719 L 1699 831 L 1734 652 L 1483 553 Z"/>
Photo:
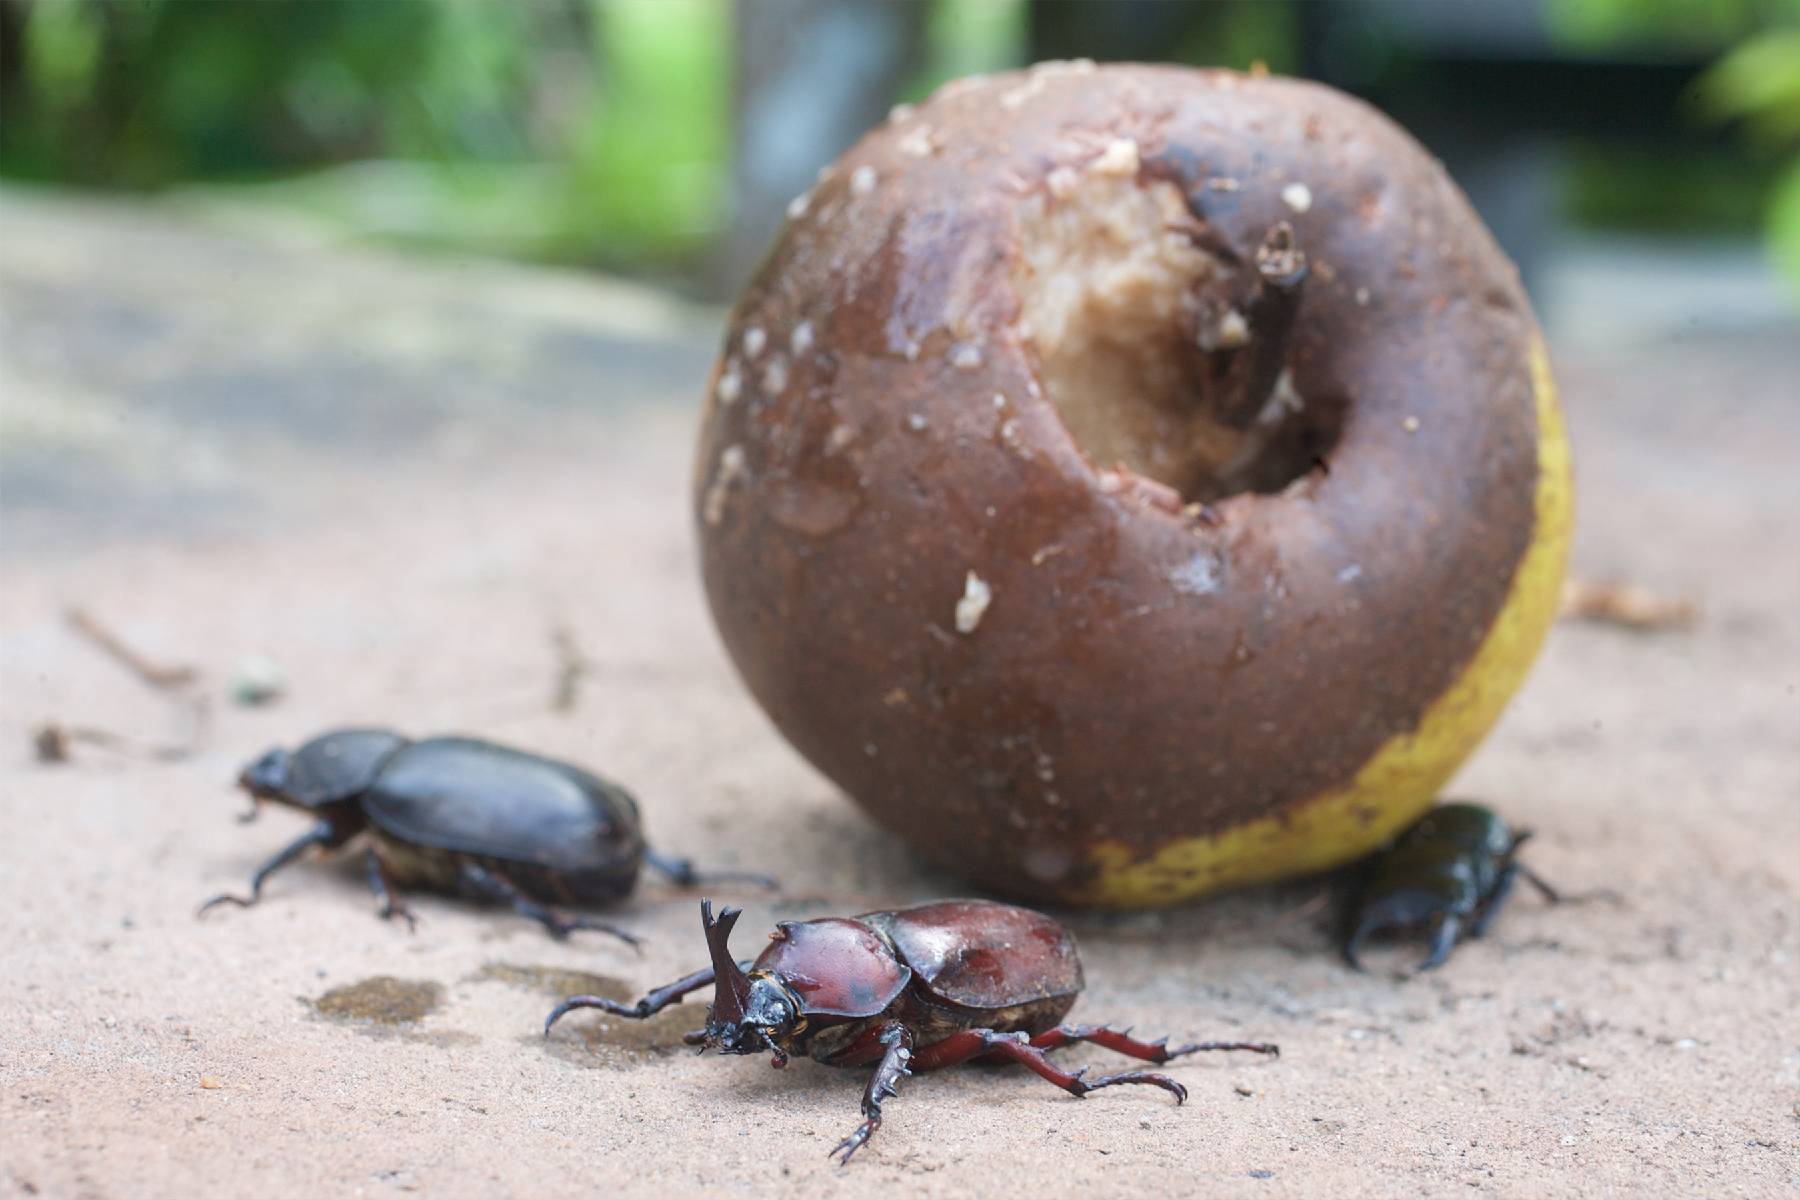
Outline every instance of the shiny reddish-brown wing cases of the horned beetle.
<path id="1" fill-rule="evenodd" d="M 1031 909 L 947 900 L 860 919 L 887 934 L 920 984 L 950 1004 L 1006 1009 L 1060 997 L 1073 1002 L 1082 990 L 1075 936 Z"/>

